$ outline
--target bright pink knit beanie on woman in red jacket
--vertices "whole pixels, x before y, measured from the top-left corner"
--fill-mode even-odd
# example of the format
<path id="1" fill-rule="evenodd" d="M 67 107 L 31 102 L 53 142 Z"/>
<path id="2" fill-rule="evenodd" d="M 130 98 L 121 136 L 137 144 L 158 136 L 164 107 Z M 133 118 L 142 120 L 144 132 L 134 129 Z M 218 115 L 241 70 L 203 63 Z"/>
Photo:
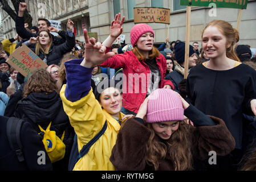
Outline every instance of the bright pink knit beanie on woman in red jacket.
<path id="1" fill-rule="evenodd" d="M 155 33 L 151 26 L 149 26 L 146 23 L 139 23 L 135 24 L 135 26 L 132 27 L 130 37 L 131 37 L 131 44 L 134 47 L 137 40 L 140 38 L 142 34 L 145 34 L 146 32 L 151 32 L 153 36 L 155 36 Z"/>

